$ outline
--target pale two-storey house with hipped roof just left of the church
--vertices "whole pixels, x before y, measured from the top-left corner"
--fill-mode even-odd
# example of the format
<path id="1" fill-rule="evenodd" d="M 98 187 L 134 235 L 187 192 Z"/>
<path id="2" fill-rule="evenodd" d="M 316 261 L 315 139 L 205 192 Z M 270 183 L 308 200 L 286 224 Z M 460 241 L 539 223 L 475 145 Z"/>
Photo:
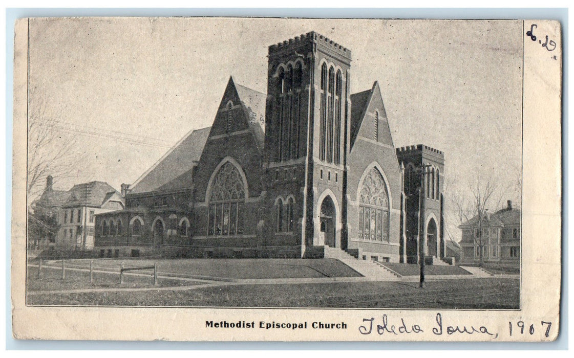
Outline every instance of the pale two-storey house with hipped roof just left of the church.
<path id="1" fill-rule="evenodd" d="M 123 197 L 102 181 L 76 184 L 68 190 L 67 196 L 57 212 L 59 231 L 56 246 L 65 250 L 91 250 L 94 247 L 95 215 L 123 209 Z"/>

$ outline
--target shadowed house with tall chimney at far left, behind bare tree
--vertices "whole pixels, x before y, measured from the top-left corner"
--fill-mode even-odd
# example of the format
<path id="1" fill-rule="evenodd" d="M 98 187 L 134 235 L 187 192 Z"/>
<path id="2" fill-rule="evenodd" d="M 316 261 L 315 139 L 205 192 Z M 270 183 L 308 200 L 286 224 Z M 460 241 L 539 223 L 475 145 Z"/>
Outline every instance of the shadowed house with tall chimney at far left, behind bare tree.
<path id="1" fill-rule="evenodd" d="M 46 177 L 46 188 L 28 213 L 28 248 L 48 248 L 56 245 L 57 212 L 66 203 L 69 193 L 54 190 L 52 176 Z"/>

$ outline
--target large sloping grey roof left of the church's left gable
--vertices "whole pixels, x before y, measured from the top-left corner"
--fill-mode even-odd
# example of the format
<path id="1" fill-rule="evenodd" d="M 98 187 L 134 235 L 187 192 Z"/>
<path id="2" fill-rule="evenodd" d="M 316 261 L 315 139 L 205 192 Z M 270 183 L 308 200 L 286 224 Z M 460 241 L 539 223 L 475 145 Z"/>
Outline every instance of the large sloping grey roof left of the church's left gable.
<path id="1" fill-rule="evenodd" d="M 132 184 L 130 194 L 147 193 L 169 186 L 197 164 L 211 127 L 189 131 L 176 145 Z M 191 184 L 191 183 L 190 183 Z"/>

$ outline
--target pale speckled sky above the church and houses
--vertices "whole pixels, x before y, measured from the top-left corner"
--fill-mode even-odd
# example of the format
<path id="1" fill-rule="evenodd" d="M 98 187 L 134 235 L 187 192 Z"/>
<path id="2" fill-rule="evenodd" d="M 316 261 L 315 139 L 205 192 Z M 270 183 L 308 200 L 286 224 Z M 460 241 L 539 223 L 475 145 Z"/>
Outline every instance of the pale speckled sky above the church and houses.
<path id="1" fill-rule="evenodd" d="M 62 140 L 86 153 L 85 167 L 55 188 L 133 183 L 190 130 L 211 125 L 230 76 L 266 93 L 267 46 L 312 30 L 351 49 L 351 93 L 379 82 L 395 147 L 445 153 L 449 190 L 476 176 L 516 180 L 521 21 L 36 19 L 29 88 L 68 129 Z M 517 190 L 505 195 L 520 200 Z"/>

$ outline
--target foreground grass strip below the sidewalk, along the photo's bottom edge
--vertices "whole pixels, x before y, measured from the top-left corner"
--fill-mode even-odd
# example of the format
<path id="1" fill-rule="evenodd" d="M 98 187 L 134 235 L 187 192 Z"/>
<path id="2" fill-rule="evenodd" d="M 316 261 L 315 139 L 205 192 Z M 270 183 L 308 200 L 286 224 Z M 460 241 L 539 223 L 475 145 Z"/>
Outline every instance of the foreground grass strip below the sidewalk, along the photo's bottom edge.
<path id="1" fill-rule="evenodd" d="M 518 309 L 517 279 L 227 285 L 192 290 L 32 295 L 32 305 Z"/>

